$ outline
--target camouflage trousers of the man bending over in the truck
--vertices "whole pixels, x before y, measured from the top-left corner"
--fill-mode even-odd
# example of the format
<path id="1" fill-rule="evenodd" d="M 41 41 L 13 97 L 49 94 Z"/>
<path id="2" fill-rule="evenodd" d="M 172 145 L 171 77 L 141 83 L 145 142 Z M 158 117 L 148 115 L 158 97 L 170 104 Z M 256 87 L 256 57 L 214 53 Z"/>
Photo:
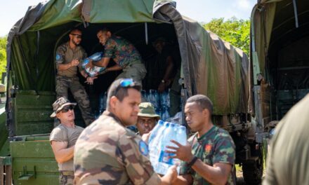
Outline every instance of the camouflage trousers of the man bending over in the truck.
<path id="1" fill-rule="evenodd" d="M 131 64 L 129 67 L 122 69 L 122 73 L 116 78 L 133 78 L 134 81 L 142 84 L 143 78 L 145 78 L 147 70 L 143 63 Z"/>

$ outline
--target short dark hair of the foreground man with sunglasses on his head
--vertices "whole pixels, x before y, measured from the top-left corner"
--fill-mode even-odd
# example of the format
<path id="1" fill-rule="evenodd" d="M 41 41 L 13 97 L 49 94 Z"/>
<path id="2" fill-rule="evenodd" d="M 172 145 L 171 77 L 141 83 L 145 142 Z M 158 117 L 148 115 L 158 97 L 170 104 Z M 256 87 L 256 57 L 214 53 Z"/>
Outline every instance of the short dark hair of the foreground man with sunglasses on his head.
<path id="1" fill-rule="evenodd" d="M 132 80 L 133 81 L 132 85 L 129 85 L 128 87 L 121 87 L 121 82 L 125 79 L 126 78 L 119 78 L 116 81 L 114 81 L 112 85 L 110 85 L 110 88 L 108 89 L 108 92 L 107 92 L 107 102 L 106 102 L 107 109 L 109 109 L 110 107 L 111 97 L 115 96 L 120 102 L 122 102 L 122 100 L 124 100 L 124 97 L 128 96 L 129 88 L 133 88 L 138 91 L 142 89 L 142 86 L 140 85 L 140 83 L 137 83 L 136 81 L 133 81 L 133 80 Z"/>

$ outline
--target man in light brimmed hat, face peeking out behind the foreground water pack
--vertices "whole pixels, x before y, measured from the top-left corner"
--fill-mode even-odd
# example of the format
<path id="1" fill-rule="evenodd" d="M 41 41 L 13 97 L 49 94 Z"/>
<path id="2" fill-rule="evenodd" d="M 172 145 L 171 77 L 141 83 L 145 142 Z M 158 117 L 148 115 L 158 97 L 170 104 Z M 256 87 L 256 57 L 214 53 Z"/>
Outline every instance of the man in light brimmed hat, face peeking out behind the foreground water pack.
<path id="1" fill-rule="evenodd" d="M 138 134 L 142 136 L 149 133 L 155 127 L 160 116 L 156 114 L 155 107 L 150 102 L 140 103 L 138 107 L 140 111 L 138 112 L 136 127 L 138 128 Z"/>

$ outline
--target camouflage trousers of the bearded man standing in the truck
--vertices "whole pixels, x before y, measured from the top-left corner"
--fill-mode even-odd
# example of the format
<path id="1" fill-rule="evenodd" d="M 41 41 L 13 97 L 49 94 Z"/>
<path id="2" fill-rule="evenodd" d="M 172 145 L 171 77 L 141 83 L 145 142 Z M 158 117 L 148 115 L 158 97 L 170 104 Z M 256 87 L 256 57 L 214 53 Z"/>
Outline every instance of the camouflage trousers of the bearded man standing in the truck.
<path id="1" fill-rule="evenodd" d="M 55 92 L 58 97 L 66 97 L 68 90 L 70 89 L 74 99 L 79 105 L 81 110 L 81 116 L 83 116 L 85 124 L 90 125 L 94 121 L 94 116 L 91 114 L 91 107 L 86 90 L 81 83 L 79 83 L 79 78 L 76 77 L 65 77 L 57 76 Z"/>

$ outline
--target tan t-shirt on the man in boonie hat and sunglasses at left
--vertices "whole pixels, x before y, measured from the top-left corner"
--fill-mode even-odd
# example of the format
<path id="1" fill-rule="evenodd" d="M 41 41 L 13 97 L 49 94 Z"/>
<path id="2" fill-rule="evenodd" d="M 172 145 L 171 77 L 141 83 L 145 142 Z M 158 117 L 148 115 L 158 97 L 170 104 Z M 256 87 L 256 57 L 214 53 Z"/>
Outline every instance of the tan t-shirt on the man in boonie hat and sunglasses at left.
<path id="1" fill-rule="evenodd" d="M 70 148 L 76 143 L 77 138 L 83 130 L 84 128 L 77 125 L 75 125 L 75 128 L 68 128 L 63 124 L 60 124 L 51 131 L 49 141 L 67 142 L 67 148 Z M 67 160 L 65 163 L 58 163 L 58 167 L 60 171 L 73 171 L 73 158 Z"/>

